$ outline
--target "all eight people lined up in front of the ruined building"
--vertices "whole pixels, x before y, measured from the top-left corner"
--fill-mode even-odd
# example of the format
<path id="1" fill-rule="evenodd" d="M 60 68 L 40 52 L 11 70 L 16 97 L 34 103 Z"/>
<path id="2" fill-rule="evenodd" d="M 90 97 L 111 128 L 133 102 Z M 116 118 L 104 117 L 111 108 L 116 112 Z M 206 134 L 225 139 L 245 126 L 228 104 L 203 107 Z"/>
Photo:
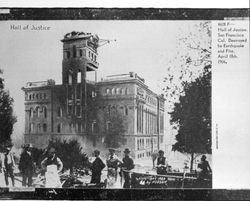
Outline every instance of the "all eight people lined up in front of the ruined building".
<path id="1" fill-rule="evenodd" d="M 109 155 L 105 161 L 106 163 L 104 163 L 100 158 L 100 151 L 94 151 L 95 159 L 90 163 L 90 170 L 92 173 L 90 183 L 97 185 L 100 184 L 103 169 L 107 167 L 108 186 L 114 186 L 115 183 L 117 183 L 119 175 L 121 180 L 124 179 L 124 181 L 121 181 L 121 183 L 123 183 L 123 188 L 131 188 L 131 172 L 135 165 L 133 159 L 130 157 L 130 150 L 128 148 L 124 150 L 124 157 L 122 160 L 119 159 L 115 152 L 115 149 L 109 148 Z M 153 169 L 156 168 L 156 173 L 159 175 L 166 175 L 168 165 L 166 157 L 164 156 L 164 151 L 160 150 L 158 153 L 154 152 L 152 154 L 152 160 Z M 11 146 L 5 147 L 3 154 L 1 154 L 0 164 L 0 170 L 4 173 L 6 186 L 9 186 L 9 178 L 11 179 L 12 186 L 15 186 L 14 169 L 16 164 L 13 153 L 11 152 Z M 59 174 L 63 170 L 63 162 L 57 156 L 54 147 L 50 147 L 47 150 L 46 157 L 41 162 L 41 167 L 45 171 L 45 187 L 62 187 Z M 198 180 L 202 181 L 212 171 L 205 155 L 201 157 L 201 163 L 198 167 L 201 169 Z M 26 144 L 23 146 L 23 152 L 18 164 L 18 169 L 22 175 L 23 187 L 32 186 L 35 168 L 32 145 Z"/>

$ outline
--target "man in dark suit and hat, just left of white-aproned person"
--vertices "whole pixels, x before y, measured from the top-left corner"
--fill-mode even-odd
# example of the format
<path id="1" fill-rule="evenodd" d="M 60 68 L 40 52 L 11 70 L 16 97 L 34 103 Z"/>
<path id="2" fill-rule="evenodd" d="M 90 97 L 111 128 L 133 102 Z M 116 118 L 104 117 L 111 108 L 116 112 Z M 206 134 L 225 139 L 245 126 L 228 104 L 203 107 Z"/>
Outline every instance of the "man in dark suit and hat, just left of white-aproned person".
<path id="1" fill-rule="evenodd" d="M 32 156 L 32 145 L 26 144 L 23 146 L 23 152 L 20 157 L 19 170 L 23 176 L 22 186 L 31 187 L 32 176 L 35 171 L 35 164 Z M 28 180 L 28 182 L 27 182 Z"/>

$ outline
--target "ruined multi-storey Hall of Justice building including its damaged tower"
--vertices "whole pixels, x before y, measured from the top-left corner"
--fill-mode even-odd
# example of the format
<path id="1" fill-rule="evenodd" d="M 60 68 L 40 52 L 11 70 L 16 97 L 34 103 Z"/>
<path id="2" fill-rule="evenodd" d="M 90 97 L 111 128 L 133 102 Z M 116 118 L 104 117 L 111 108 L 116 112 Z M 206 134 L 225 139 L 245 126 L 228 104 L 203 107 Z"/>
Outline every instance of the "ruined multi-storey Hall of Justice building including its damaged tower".
<path id="1" fill-rule="evenodd" d="M 99 134 L 100 122 L 108 129 L 112 122 L 105 115 L 115 109 L 124 121 L 126 142 L 121 148 L 129 147 L 135 159 L 150 157 L 163 148 L 164 98 L 132 72 L 99 82 L 87 80 L 90 72 L 97 77 L 97 36 L 71 32 L 61 41 L 62 84 L 48 80 L 28 82 L 22 88 L 25 142 L 40 148 L 46 147 L 51 138 L 88 142 L 89 136 Z"/>

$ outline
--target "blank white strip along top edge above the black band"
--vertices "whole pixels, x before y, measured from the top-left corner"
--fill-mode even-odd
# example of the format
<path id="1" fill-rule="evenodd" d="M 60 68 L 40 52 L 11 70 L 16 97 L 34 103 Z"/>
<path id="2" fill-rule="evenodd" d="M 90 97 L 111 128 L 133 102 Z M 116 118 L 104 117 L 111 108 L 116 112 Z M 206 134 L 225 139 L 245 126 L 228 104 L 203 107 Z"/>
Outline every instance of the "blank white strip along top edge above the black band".
<path id="1" fill-rule="evenodd" d="M 0 7 L 249 8 L 249 0 L 1 0 Z"/>

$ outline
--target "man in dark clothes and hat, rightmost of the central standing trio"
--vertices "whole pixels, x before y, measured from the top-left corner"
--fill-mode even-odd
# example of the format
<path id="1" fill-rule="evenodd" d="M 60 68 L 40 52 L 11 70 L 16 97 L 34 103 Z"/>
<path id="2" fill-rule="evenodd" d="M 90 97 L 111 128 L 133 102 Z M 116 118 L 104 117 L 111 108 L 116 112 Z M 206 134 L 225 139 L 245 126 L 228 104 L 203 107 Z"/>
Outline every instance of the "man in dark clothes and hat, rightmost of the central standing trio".
<path id="1" fill-rule="evenodd" d="M 131 178 L 130 178 L 130 170 L 132 170 L 135 165 L 134 165 L 134 161 L 132 158 L 129 157 L 129 153 L 130 150 L 128 148 L 126 148 L 124 150 L 124 158 L 122 159 L 122 164 L 121 164 L 121 168 L 122 168 L 122 173 L 124 176 L 124 184 L 123 184 L 123 188 L 130 188 L 131 187 Z"/>

